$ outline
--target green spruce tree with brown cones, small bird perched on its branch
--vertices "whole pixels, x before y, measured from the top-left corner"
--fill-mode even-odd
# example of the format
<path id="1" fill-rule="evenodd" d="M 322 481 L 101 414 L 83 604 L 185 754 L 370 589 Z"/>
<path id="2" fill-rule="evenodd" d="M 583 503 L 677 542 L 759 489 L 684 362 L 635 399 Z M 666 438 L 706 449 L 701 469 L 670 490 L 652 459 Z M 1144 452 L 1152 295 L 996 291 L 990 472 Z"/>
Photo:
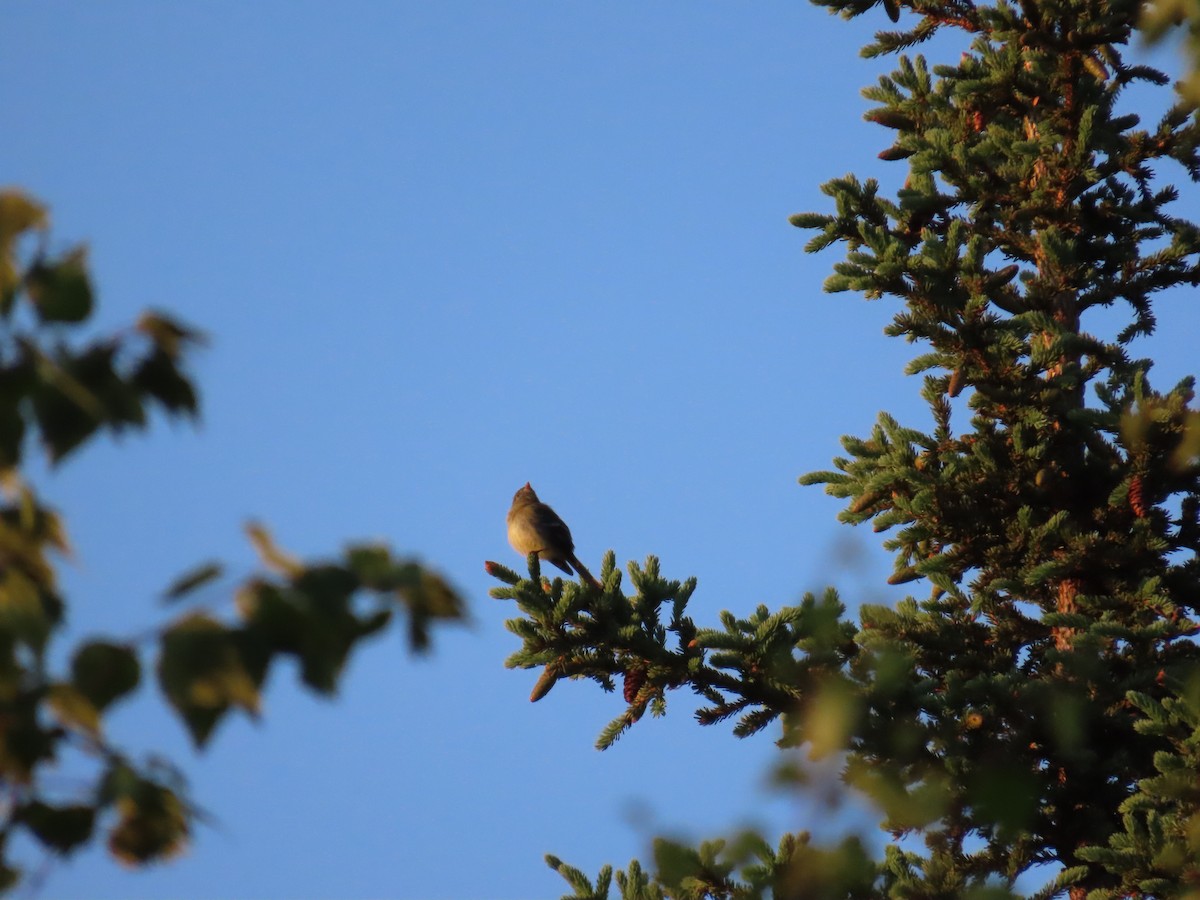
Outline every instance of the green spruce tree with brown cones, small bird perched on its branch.
<path id="1" fill-rule="evenodd" d="M 808 834 L 660 841 L 653 874 L 617 875 L 623 898 L 1013 896 L 1038 866 L 1042 898 L 1200 889 L 1200 413 L 1192 379 L 1156 389 L 1130 355 L 1154 295 L 1200 284 L 1170 184 L 1200 180 L 1194 104 L 1148 124 L 1123 104 L 1172 90 L 1136 62 L 1130 0 L 817 4 L 904 26 L 864 48 L 901 54 L 864 95 L 907 178 L 894 197 L 835 179 L 833 210 L 792 222 L 809 251 L 845 245 L 827 290 L 895 304 L 930 419 L 881 414 L 802 482 L 888 533 L 889 581 L 914 594 L 851 618 L 828 590 L 700 628 L 695 580 L 653 557 L 629 594 L 612 554 L 601 590 L 490 564 L 522 612 L 509 664 L 542 667 L 533 700 L 622 682 L 601 748 L 678 688 L 738 736 L 780 719 L 780 744 L 838 754 L 898 839 L 880 859 Z M 904 55 L 935 34 L 961 58 Z M 1104 307 L 1115 334 L 1093 332 Z M 608 894 L 611 869 L 550 862 L 575 896 Z"/>

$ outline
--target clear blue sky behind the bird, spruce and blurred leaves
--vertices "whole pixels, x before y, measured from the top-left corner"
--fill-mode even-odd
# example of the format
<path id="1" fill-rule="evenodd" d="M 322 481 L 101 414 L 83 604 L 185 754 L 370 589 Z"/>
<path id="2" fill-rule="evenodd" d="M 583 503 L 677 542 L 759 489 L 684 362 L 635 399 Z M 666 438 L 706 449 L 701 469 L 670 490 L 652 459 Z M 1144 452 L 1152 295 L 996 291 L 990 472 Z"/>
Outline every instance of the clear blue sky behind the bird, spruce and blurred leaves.
<path id="1" fill-rule="evenodd" d="M 156 596 L 203 559 L 248 574 L 251 517 L 304 556 L 384 539 L 473 614 L 428 659 L 377 641 L 335 703 L 277 671 L 264 720 L 203 755 L 146 692 L 110 737 L 180 761 L 211 827 L 168 866 L 49 865 L 40 896 L 515 900 L 565 893 L 545 852 L 594 872 L 658 832 L 830 833 L 811 798 L 763 786 L 774 730 L 700 728 L 676 695 L 601 754 L 619 696 L 570 683 L 530 704 L 482 565 L 520 564 L 503 520 L 532 480 L 586 562 L 654 553 L 698 577 L 703 624 L 830 583 L 890 596 L 878 539 L 796 478 L 880 409 L 928 424 L 912 348 L 882 335 L 892 302 L 822 294 L 838 251 L 806 257 L 786 223 L 828 208 L 829 178 L 904 176 L 862 121 L 859 89 L 890 68 L 857 58 L 876 19 L 796 0 L 4 4 L 0 182 L 90 244 L 101 326 L 160 306 L 211 337 L 200 428 L 103 440 L 40 481 L 77 551 L 71 635 L 164 620 Z M 1160 385 L 1194 364 L 1190 300 L 1140 348 Z"/>

